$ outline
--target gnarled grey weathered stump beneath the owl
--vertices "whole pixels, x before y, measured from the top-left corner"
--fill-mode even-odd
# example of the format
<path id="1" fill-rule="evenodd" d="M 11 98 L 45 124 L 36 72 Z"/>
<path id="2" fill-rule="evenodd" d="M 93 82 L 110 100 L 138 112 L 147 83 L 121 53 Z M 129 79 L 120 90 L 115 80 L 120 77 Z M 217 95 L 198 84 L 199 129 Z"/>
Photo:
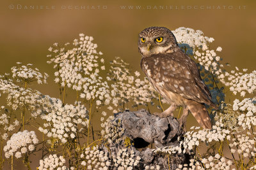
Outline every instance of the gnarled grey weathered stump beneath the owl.
<path id="1" fill-rule="evenodd" d="M 148 146 L 152 143 L 156 147 L 179 146 L 178 138 L 182 138 L 182 131 L 176 118 L 159 118 L 150 115 L 147 110 L 126 110 L 115 114 L 115 121 L 117 120 L 122 121 L 122 127 L 125 129 L 124 136 L 129 137 L 134 143 L 129 149 L 134 150 L 136 155 L 141 157 L 140 167 L 137 169 L 156 165 L 159 165 L 160 169 L 169 169 L 168 158 L 162 154 L 154 153 L 154 150 Z M 118 149 L 124 147 L 124 141 L 121 141 L 109 148 L 112 153 L 117 153 Z M 138 150 L 138 148 L 140 149 Z M 188 159 L 186 153 L 172 154 L 169 160 L 170 169 L 177 169 L 179 164 L 188 164 Z M 116 167 L 111 169 L 116 169 Z"/>

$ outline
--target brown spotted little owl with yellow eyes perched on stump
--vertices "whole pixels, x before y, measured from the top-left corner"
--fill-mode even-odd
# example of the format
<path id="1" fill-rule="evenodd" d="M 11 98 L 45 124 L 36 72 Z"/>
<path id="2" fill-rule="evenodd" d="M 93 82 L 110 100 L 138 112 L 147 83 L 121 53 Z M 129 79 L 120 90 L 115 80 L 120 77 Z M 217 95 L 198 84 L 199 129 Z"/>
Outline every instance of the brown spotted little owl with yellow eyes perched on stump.
<path id="1" fill-rule="evenodd" d="M 172 31 L 165 27 L 148 27 L 139 34 L 141 68 L 154 89 L 171 106 L 159 117 L 173 116 L 173 111 L 183 107 L 180 126 L 186 124 L 189 111 L 205 129 L 211 129 L 211 119 L 204 104 L 217 108 L 212 103 L 209 89 L 200 77 L 196 63 L 178 46 Z"/>

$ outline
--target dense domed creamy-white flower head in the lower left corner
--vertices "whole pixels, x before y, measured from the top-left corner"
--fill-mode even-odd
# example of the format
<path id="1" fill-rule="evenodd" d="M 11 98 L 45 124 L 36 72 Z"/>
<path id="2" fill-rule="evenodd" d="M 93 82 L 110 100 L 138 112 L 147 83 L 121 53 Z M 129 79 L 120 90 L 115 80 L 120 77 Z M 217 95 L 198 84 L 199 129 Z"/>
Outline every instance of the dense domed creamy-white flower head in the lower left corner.
<path id="1" fill-rule="evenodd" d="M 34 131 L 23 131 L 13 134 L 10 140 L 7 141 L 4 146 L 5 157 L 9 158 L 15 153 L 15 157 L 19 159 L 22 157 L 22 153 L 32 152 L 35 150 L 35 144 L 38 143 L 36 134 Z M 28 148 L 27 148 L 28 147 Z M 20 148 L 20 151 L 18 151 Z"/>

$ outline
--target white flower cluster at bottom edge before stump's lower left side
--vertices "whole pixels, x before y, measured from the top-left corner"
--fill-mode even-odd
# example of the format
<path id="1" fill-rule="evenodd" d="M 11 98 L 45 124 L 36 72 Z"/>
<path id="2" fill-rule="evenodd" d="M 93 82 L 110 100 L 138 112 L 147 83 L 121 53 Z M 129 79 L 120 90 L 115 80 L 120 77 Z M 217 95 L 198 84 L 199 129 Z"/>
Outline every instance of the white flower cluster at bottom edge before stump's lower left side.
<path id="1" fill-rule="evenodd" d="M 122 148 L 118 150 L 116 155 L 113 155 L 114 166 L 118 167 L 118 170 L 131 170 L 138 166 L 140 163 L 140 156 L 136 156 L 133 150 Z"/>

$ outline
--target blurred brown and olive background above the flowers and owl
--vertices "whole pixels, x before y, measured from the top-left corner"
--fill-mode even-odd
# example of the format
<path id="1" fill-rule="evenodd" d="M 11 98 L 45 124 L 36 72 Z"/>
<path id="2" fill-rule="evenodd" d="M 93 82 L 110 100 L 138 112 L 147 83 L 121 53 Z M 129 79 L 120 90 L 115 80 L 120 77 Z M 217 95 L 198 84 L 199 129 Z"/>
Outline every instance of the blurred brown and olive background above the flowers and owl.
<path id="1" fill-rule="evenodd" d="M 30 6 L 35 9 L 30 9 Z M 85 9 L 81 9 L 81 6 Z M 129 6 L 133 6 L 133 9 L 129 9 Z M 164 6 L 164 10 L 159 6 Z M 34 64 L 50 75 L 49 84 L 40 87 L 40 92 L 58 97 L 58 87 L 52 81 L 54 70 L 46 64 L 47 49 L 55 42 L 71 42 L 82 32 L 93 36 L 93 42 L 98 44 L 98 50 L 104 53 L 107 62 L 120 56 L 132 68 L 141 71 L 138 33 L 149 26 L 164 26 L 171 30 L 178 27 L 200 29 L 205 36 L 215 39 L 212 43 L 214 49 L 217 46 L 223 48 L 221 57 L 224 62 L 252 71 L 256 61 L 255 10 L 256 1 L 249 0 L 4 0 L 0 3 L 0 74 L 10 72 L 16 62 Z M 38 162 L 34 162 L 33 168 L 35 164 L 38 165 Z"/>

